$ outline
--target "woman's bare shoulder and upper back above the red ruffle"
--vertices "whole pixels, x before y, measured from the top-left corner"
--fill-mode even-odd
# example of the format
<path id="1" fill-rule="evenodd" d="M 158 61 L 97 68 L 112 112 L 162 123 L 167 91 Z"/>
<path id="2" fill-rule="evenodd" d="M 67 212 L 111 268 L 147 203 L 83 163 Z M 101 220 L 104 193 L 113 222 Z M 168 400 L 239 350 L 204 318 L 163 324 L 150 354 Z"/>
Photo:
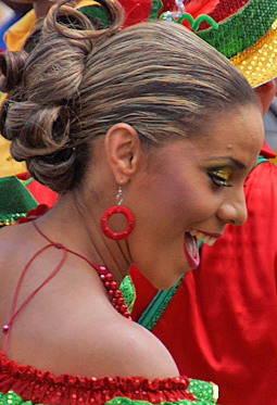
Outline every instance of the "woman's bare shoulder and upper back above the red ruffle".
<path id="1" fill-rule="evenodd" d="M 0 292 L 7 296 L 1 301 L 2 325 L 9 317 L 23 263 L 37 251 L 28 237 L 30 231 L 28 224 L 0 230 L 0 275 L 4 280 Z M 14 254 L 17 250 L 18 254 Z M 60 251 L 51 251 L 51 261 L 59 254 Z M 8 257 L 12 265 L 7 269 Z M 49 255 L 41 256 L 38 267 L 26 275 L 20 303 L 49 276 L 48 264 Z M 151 380 L 178 376 L 165 346 L 147 329 L 119 315 L 109 302 L 98 274 L 75 256 L 18 314 L 8 356 L 42 371 L 51 370 L 55 376 L 142 376 Z"/>

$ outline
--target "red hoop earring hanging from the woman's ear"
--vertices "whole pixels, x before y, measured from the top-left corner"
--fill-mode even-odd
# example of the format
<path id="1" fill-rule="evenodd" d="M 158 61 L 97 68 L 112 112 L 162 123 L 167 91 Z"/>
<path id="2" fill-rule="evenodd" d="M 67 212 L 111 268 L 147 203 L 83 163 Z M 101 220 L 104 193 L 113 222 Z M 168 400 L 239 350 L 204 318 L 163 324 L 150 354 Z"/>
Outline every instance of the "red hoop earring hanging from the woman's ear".
<path id="1" fill-rule="evenodd" d="M 133 212 L 127 208 L 126 206 L 122 205 L 123 198 L 122 198 L 122 187 L 118 186 L 118 193 L 116 195 L 117 205 L 112 205 L 106 208 L 100 219 L 100 227 L 102 232 L 110 239 L 113 240 L 121 240 L 127 238 L 134 229 L 135 226 L 135 217 Z M 114 232 L 109 228 L 109 218 L 113 214 L 123 214 L 127 218 L 127 227 L 122 232 Z"/>

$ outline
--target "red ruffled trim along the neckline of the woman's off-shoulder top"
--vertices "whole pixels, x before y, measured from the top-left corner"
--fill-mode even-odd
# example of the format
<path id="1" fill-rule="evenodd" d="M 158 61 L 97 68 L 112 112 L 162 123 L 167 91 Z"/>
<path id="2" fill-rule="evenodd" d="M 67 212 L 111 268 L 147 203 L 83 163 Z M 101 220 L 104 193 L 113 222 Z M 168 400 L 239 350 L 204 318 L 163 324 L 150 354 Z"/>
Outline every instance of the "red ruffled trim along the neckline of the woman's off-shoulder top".
<path id="1" fill-rule="evenodd" d="M 187 391 L 187 377 L 148 380 L 144 377 L 73 377 L 63 374 L 52 376 L 32 366 L 18 365 L 0 352 L 0 391 L 14 391 L 24 401 L 50 405 L 100 405 L 115 396 L 134 401 L 196 400 Z"/>

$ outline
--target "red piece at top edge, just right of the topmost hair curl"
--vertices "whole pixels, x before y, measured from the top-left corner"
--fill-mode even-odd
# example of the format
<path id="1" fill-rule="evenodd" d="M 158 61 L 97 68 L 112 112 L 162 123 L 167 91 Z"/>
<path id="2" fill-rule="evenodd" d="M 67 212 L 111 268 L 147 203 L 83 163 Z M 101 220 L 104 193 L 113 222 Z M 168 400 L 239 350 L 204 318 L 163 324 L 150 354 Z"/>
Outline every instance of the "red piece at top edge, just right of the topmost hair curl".
<path id="1" fill-rule="evenodd" d="M 151 0 L 119 0 L 125 10 L 125 18 L 122 28 L 129 27 L 147 21 L 152 8 Z"/>

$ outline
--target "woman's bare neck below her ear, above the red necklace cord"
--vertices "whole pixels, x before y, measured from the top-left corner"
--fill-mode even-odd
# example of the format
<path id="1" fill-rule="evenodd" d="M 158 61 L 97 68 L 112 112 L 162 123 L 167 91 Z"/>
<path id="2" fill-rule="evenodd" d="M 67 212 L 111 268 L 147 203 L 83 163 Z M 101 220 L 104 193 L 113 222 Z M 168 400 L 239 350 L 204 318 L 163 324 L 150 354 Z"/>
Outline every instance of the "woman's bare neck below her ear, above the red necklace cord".
<path id="1" fill-rule="evenodd" d="M 37 224 L 51 240 L 86 256 L 98 266 L 106 266 L 121 283 L 131 265 L 127 242 L 108 239 L 100 230 L 100 216 L 97 207 L 93 210 L 91 206 L 88 215 L 73 199 L 62 197 Z"/>

